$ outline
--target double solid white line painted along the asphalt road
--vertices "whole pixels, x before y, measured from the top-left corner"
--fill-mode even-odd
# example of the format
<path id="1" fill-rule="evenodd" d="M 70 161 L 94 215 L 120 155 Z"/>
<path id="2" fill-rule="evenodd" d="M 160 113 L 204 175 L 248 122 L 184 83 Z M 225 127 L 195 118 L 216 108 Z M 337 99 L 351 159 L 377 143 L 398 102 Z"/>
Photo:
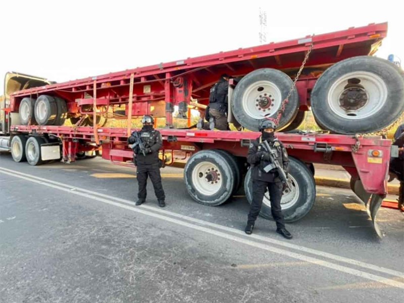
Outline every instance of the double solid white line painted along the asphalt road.
<path id="1" fill-rule="evenodd" d="M 8 172 L 8 171 L 10 171 L 10 172 Z M 213 235 L 216 235 L 216 236 L 219 236 L 219 237 L 222 237 L 222 238 L 226 238 L 226 239 L 229 239 L 229 240 L 233 240 L 233 241 L 236 241 L 236 242 L 239 242 L 239 243 L 247 244 L 247 245 L 250 245 L 250 246 L 254 246 L 254 247 L 261 248 L 261 249 L 268 250 L 268 251 L 272 251 L 272 252 L 276 252 L 277 254 L 280 254 L 280 255 L 288 256 L 288 257 L 298 259 L 298 260 L 301 260 L 301 261 L 305 261 L 305 262 L 310 262 L 312 264 L 317 264 L 317 265 L 327 267 L 327 268 L 330 268 L 330 269 L 334 269 L 334 270 L 337 270 L 337 271 L 341 271 L 341 272 L 344 272 L 344 273 L 347 273 L 347 274 L 351 274 L 351 275 L 358 276 L 358 277 L 361 277 L 361 278 L 366 278 L 366 279 L 369 279 L 369 280 L 377 281 L 377 282 L 380 282 L 380 283 L 383 283 L 383 284 L 386 284 L 386 285 L 389 285 L 389 286 L 404 289 L 404 283 L 394 281 L 392 279 L 387 279 L 387 278 L 384 278 L 382 276 L 377 276 L 377 275 L 370 274 L 370 273 L 367 273 L 367 272 L 364 272 L 364 271 L 361 271 L 361 270 L 356 270 L 356 269 L 349 268 L 349 267 L 346 267 L 346 266 L 341 266 L 341 265 L 338 265 L 338 264 L 334 264 L 334 263 L 331 263 L 331 262 L 328 262 L 328 261 L 323 261 L 323 260 L 312 258 L 312 257 L 309 257 L 309 256 L 297 254 L 297 253 L 292 252 L 292 251 L 280 249 L 280 248 L 277 248 L 277 247 L 272 247 L 272 246 L 270 246 L 268 244 L 257 243 L 257 242 L 251 241 L 251 240 L 247 240 L 247 239 L 245 239 L 243 237 L 229 235 L 227 233 L 223 233 L 221 231 L 213 230 L 213 229 L 210 229 L 210 228 L 207 228 L 207 227 L 204 227 L 204 226 L 199 226 L 199 225 L 195 225 L 195 224 L 192 224 L 192 223 L 180 221 L 180 220 L 168 217 L 167 215 L 174 216 L 174 217 L 177 217 L 177 218 L 180 218 L 180 219 L 183 219 L 183 220 L 187 220 L 187 221 L 193 221 L 193 222 L 198 223 L 198 224 L 202 224 L 202 225 L 210 226 L 210 227 L 215 227 L 215 228 L 218 228 L 218 229 L 221 229 L 221 230 L 225 230 L 225 231 L 228 231 L 228 232 L 231 232 L 231 233 L 235 233 L 235 234 L 239 234 L 239 235 L 244 236 L 244 233 L 242 231 L 236 230 L 234 228 L 229 228 L 229 227 L 226 227 L 226 226 L 221 226 L 221 225 L 206 222 L 206 221 L 203 221 L 203 220 L 198 220 L 198 219 L 194 219 L 194 218 L 191 218 L 191 217 L 178 215 L 178 214 L 175 214 L 175 213 L 172 213 L 172 212 L 169 212 L 169 211 L 163 211 L 163 210 L 155 209 L 155 208 L 152 208 L 152 207 L 147 207 L 147 206 L 132 207 L 132 206 L 128 206 L 128 205 L 123 205 L 121 203 L 117 203 L 115 201 L 108 200 L 108 199 L 103 198 L 101 196 L 106 196 L 108 198 L 112 198 L 112 199 L 115 199 L 115 200 L 120 200 L 120 201 L 124 202 L 125 204 L 134 205 L 134 203 L 132 201 L 116 198 L 116 197 L 105 195 L 105 194 L 99 194 L 99 193 L 92 192 L 90 190 L 87 190 L 87 189 L 84 189 L 84 188 L 79 188 L 79 187 L 74 187 L 76 189 L 76 191 L 71 191 L 72 187 L 69 186 L 69 185 L 66 185 L 64 183 L 59 183 L 59 182 L 52 181 L 52 180 L 46 180 L 46 179 L 43 179 L 43 178 L 31 176 L 31 175 L 20 173 L 20 172 L 17 172 L 17 171 L 12 171 L 12 170 L 8 170 L 8 169 L 0 168 L 0 172 L 2 172 L 4 174 L 7 174 L 7 175 L 10 175 L 10 176 L 13 176 L 13 177 L 24 179 L 24 180 L 27 180 L 27 181 L 30 181 L 30 182 L 33 182 L 33 183 L 45 185 L 45 186 L 52 187 L 52 188 L 55 188 L 55 189 L 59 189 L 59 190 L 62 190 L 62 191 L 66 191 L 66 192 L 70 192 L 70 193 L 77 194 L 77 195 L 80 195 L 80 196 L 88 197 L 88 198 L 91 198 L 91 199 L 94 199 L 94 200 L 98 200 L 98 201 L 104 202 L 104 203 L 109 204 L 109 205 L 117 206 L 117 207 L 120 207 L 120 208 L 123 208 L 123 209 L 127 209 L 127 210 L 130 210 L 130 211 L 137 212 L 137 213 L 141 213 L 141 214 L 144 214 L 144 215 L 147 215 L 147 216 L 150 216 L 150 217 L 155 217 L 155 218 L 165 220 L 167 222 L 175 223 L 175 224 L 178 224 L 178 225 L 181 225 L 181 226 L 185 226 L 185 227 L 188 227 L 188 228 L 191 228 L 191 229 L 194 229 L 194 230 L 203 231 L 203 232 L 213 234 Z M 55 185 L 55 184 L 60 184 L 60 185 Z M 80 191 L 83 191 L 83 192 L 80 192 Z M 89 193 L 91 193 L 91 194 L 89 194 Z M 144 209 L 152 210 L 153 212 L 146 211 Z M 162 213 L 164 215 L 160 215 L 160 214 L 157 214 L 157 213 Z M 394 271 L 394 270 L 379 267 L 379 266 L 376 266 L 376 265 L 371 265 L 371 264 L 363 263 L 363 262 L 360 262 L 360 261 L 340 257 L 340 256 L 337 256 L 337 255 L 329 254 L 327 252 L 320 251 L 320 250 L 307 248 L 307 247 L 299 246 L 299 245 L 295 245 L 295 244 L 290 244 L 290 243 L 286 243 L 286 242 L 283 242 L 283 241 L 274 240 L 274 239 L 271 239 L 271 238 L 268 238 L 268 237 L 263 237 L 263 236 L 254 235 L 254 234 L 250 235 L 248 237 L 253 238 L 253 239 L 258 239 L 258 240 L 261 240 L 261 241 L 265 241 L 265 242 L 270 242 L 270 243 L 281 245 L 281 246 L 285 246 L 285 247 L 289 247 L 289 248 L 300 250 L 300 251 L 309 252 L 310 254 L 314 254 L 314 255 L 321 256 L 321 257 L 329 258 L 329 259 L 332 259 L 332 260 L 335 260 L 335 261 L 345 262 L 345 263 L 348 263 L 348 264 L 351 264 L 351 265 L 364 267 L 366 269 L 371 269 L 371 270 L 387 273 L 387 274 L 398 276 L 398 277 L 404 277 L 404 273 L 401 273 L 401 272 L 398 272 L 398 271 Z"/>

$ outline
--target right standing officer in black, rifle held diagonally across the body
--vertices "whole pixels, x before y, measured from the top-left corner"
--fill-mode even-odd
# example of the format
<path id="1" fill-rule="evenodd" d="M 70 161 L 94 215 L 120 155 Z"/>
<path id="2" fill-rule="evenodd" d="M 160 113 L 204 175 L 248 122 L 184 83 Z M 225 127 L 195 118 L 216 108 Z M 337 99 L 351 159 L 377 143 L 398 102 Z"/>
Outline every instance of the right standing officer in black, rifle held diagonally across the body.
<path id="1" fill-rule="evenodd" d="M 248 149 L 247 162 L 251 164 L 252 203 L 248 214 L 247 226 L 244 231 L 246 234 L 252 233 L 255 221 L 261 211 L 265 191 L 268 188 L 272 217 L 276 221 L 276 231 L 283 237 L 291 239 L 292 235 L 285 228 L 285 221 L 281 209 L 281 198 L 286 184 L 281 182 L 276 169 L 272 169 L 268 173 L 264 171 L 264 168 L 271 164 L 269 154 L 261 144 L 263 140 L 267 140 L 271 148 L 275 151 L 276 159 L 279 164 L 283 166 L 283 170 L 287 175 L 289 160 L 286 148 L 281 141 L 275 138 L 275 129 L 276 124 L 273 121 L 263 120 L 260 123 L 262 136 L 252 141 Z"/>

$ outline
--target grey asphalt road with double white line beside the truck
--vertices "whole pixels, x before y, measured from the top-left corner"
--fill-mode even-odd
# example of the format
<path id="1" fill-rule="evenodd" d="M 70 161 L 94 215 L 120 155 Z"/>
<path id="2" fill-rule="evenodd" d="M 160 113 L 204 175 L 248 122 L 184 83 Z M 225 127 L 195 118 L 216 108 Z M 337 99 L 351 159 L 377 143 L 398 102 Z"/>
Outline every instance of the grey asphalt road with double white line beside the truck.
<path id="1" fill-rule="evenodd" d="M 134 206 L 134 169 L 101 159 L 38 167 L 0 154 L 0 302 L 402 302 L 404 216 L 381 209 L 379 239 L 349 190 L 318 187 L 313 210 L 242 231 L 242 193 L 197 204 L 164 168 Z"/>

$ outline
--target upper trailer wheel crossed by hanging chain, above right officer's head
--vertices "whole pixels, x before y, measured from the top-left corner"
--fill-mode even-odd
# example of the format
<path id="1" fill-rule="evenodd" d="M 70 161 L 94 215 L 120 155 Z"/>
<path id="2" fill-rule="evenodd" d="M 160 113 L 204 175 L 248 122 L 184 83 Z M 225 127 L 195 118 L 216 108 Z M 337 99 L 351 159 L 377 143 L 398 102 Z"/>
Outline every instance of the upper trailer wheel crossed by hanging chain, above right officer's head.
<path id="1" fill-rule="evenodd" d="M 234 117 L 243 127 L 258 131 L 262 119 L 277 117 L 282 101 L 292 85 L 293 82 L 288 75 L 271 68 L 258 69 L 247 74 L 233 92 L 231 108 Z M 294 89 L 278 128 L 286 126 L 293 120 L 298 106 L 298 95 Z"/>

